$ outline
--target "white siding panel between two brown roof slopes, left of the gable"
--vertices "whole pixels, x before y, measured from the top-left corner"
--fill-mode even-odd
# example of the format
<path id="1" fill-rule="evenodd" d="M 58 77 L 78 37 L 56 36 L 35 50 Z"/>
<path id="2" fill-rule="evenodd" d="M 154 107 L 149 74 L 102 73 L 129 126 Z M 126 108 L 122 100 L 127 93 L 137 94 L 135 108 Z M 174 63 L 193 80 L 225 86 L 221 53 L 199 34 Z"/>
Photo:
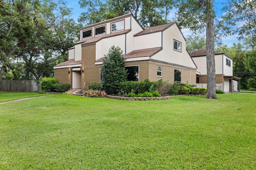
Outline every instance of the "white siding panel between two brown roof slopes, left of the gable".
<path id="1" fill-rule="evenodd" d="M 134 37 L 134 50 L 161 47 L 161 32 Z"/>

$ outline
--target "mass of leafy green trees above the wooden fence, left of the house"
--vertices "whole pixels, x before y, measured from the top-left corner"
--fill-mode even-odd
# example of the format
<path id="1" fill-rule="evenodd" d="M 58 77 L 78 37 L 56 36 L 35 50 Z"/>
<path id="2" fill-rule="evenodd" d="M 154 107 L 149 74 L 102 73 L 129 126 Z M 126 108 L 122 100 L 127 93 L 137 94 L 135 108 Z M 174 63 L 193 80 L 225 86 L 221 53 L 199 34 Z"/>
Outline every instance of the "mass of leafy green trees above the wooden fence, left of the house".
<path id="1" fill-rule="evenodd" d="M 79 37 L 79 25 L 68 19 L 66 2 L 48 0 L 1 1 L 0 64 L 2 75 L 11 70 L 16 79 L 53 76 L 53 66 L 68 59 L 68 48 Z M 15 63 L 25 72 L 18 77 Z"/>

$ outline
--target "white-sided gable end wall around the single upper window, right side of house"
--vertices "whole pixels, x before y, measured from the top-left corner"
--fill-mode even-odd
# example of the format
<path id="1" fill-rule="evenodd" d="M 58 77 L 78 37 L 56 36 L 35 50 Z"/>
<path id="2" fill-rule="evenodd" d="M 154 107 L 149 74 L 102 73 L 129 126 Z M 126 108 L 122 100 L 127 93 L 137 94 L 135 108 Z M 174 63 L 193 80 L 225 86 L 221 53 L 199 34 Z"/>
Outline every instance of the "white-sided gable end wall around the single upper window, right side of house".
<path id="1" fill-rule="evenodd" d="M 181 42 L 181 52 L 173 49 L 174 39 Z M 163 49 L 156 55 L 152 56 L 151 59 L 196 68 L 196 65 L 186 51 L 186 41 L 177 25 L 172 25 L 163 31 Z"/>

